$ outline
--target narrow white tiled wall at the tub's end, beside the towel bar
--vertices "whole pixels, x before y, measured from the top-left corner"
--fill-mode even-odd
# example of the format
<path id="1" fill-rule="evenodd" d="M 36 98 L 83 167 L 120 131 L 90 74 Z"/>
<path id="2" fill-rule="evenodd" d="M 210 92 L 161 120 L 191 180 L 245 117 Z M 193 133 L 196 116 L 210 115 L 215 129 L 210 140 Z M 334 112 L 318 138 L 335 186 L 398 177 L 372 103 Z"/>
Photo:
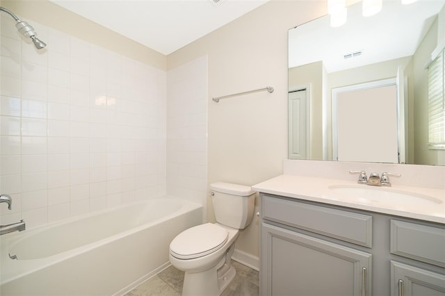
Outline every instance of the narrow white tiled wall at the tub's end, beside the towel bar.
<path id="1" fill-rule="evenodd" d="M 169 70 L 167 85 L 167 193 L 206 204 L 207 56 Z"/>

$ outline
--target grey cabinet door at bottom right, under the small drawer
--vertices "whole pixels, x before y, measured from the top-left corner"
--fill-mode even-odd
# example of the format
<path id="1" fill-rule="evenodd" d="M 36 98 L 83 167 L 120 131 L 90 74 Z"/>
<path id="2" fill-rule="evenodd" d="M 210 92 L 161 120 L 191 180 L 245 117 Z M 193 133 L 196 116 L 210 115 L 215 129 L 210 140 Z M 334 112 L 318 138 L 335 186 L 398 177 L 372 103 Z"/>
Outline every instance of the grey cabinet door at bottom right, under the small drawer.
<path id="1" fill-rule="evenodd" d="M 445 275 L 391 261 L 391 296 L 445 296 Z"/>

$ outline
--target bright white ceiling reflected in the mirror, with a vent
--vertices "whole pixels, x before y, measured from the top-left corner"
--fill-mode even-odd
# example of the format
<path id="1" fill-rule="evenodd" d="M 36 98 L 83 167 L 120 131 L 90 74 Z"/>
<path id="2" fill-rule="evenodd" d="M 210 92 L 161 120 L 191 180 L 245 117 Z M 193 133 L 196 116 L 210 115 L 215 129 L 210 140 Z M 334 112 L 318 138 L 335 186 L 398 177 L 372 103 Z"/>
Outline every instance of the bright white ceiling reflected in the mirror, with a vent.
<path id="1" fill-rule="evenodd" d="M 383 1 L 372 17 L 363 17 L 362 3 L 357 3 L 348 7 L 348 21 L 339 28 L 330 27 L 329 16 L 298 26 L 289 31 L 289 67 L 323 60 L 331 73 L 412 56 L 444 3 Z M 360 54 L 345 58 L 355 53 Z"/>

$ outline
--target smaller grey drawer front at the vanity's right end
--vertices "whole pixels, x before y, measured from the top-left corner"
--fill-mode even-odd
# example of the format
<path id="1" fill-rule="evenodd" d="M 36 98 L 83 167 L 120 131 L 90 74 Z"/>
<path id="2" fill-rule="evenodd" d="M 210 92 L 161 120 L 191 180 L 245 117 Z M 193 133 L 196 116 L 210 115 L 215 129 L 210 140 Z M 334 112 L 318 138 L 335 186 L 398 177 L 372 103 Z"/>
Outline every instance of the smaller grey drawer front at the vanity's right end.
<path id="1" fill-rule="evenodd" d="M 391 220 L 391 253 L 445 267 L 445 229 Z"/>

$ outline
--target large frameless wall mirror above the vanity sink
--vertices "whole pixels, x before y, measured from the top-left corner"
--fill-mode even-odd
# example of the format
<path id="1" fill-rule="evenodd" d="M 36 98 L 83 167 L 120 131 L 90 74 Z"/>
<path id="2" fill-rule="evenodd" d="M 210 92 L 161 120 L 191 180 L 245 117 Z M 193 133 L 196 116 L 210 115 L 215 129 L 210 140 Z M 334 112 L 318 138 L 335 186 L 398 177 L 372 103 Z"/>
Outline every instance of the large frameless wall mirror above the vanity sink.
<path id="1" fill-rule="evenodd" d="M 445 0 L 384 0 L 371 17 L 347 3 L 342 26 L 326 15 L 289 30 L 289 158 L 445 165 L 428 111 Z M 440 112 L 444 124 L 443 98 Z"/>

